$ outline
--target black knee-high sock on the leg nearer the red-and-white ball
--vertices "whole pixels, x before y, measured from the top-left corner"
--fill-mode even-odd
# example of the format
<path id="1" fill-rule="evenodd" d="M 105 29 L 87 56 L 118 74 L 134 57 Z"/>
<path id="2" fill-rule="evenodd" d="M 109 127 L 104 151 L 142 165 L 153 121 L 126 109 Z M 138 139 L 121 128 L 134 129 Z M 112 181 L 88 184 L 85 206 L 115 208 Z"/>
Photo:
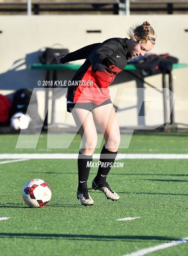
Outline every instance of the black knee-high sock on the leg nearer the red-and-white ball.
<path id="1" fill-rule="evenodd" d="M 87 180 L 90 174 L 90 164 L 93 161 L 93 155 L 87 156 L 79 151 L 78 155 L 78 190 L 87 189 Z"/>

